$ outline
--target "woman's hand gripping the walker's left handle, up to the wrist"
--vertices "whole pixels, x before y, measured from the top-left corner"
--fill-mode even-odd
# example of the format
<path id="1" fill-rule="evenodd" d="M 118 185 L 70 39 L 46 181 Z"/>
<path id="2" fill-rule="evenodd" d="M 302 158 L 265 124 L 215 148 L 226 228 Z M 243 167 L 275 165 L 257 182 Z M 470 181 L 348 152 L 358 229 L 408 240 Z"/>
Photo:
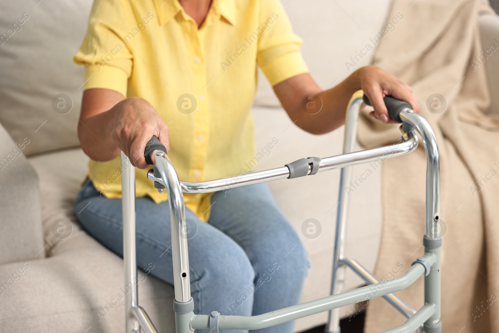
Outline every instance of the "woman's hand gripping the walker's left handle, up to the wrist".
<path id="1" fill-rule="evenodd" d="M 118 148 L 130 159 L 133 166 L 145 169 L 149 166 L 144 158 L 147 143 L 154 135 L 168 150 L 168 126 L 158 111 L 141 97 L 130 97 L 111 109 L 114 119 L 111 137 Z"/>

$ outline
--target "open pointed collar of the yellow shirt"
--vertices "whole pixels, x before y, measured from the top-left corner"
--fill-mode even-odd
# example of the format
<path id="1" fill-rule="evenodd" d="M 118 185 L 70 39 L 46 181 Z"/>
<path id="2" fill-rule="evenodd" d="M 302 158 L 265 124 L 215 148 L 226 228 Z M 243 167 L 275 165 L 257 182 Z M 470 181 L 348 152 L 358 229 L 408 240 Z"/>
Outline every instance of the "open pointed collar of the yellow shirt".
<path id="1" fill-rule="evenodd" d="M 235 0 L 211 0 L 212 5 L 208 12 L 208 16 L 211 13 L 218 13 L 224 16 L 225 19 L 232 25 L 236 25 L 236 5 Z M 180 11 L 184 11 L 184 8 L 178 0 L 154 0 L 156 4 L 156 11 L 159 16 L 160 25 L 168 23 L 173 17 L 175 17 Z M 208 19 L 208 17 L 207 17 Z"/>

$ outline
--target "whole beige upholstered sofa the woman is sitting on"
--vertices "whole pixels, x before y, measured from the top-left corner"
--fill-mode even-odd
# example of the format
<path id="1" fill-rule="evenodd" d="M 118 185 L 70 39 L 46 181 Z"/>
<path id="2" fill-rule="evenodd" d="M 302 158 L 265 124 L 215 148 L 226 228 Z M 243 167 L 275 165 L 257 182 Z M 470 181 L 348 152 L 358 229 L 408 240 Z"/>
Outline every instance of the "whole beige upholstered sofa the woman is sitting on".
<path id="1" fill-rule="evenodd" d="M 5 2 L 0 11 L 0 34 L 7 33 L 0 36 L 1 332 L 123 332 L 124 304 L 116 301 L 124 284 L 123 261 L 81 230 L 79 212 L 72 209 L 88 158 L 76 137 L 83 68 L 71 57 L 91 3 L 38 1 Z M 382 29 L 390 5 L 389 0 L 283 2 L 323 88 L 349 74 L 345 61 Z M 373 53 L 356 68 L 369 64 Z M 252 112 L 256 147 L 279 140 L 257 169 L 341 152 L 342 129 L 321 136 L 301 131 L 278 107 L 264 78 Z M 354 175 L 362 170 L 357 167 Z M 379 247 L 380 176 L 374 173 L 355 191 L 347 231 L 347 254 L 368 269 Z M 269 183 L 300 236 L 306 219 L 322 227 L 317 238 L 302 237 L 311 268 L 301 302 L 329 294 L 338 178 L 338 171 L 330 171 Z M 140 304 L 159 332 L 173 332 L 172 287 L 141 274 Z M 345 287 L 360 284 L 349 273 Z M 348 316 L 348 308 L 342 313 Z M 297 321 L 295 331 L 325 321 L 325 313 L 311 316 Z"/>

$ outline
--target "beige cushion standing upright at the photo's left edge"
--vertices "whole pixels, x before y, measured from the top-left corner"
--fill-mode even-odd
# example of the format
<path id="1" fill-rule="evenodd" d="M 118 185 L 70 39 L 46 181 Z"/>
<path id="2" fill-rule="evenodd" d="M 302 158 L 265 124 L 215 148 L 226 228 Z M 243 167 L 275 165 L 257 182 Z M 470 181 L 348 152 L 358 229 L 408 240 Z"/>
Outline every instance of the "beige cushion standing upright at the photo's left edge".
<path id="1" fill-rule="evenodd" d="M 38 177 L 24 157 L 32 133 L 13 141 L 0 125 L 0 264 L 45 257 Z"/>

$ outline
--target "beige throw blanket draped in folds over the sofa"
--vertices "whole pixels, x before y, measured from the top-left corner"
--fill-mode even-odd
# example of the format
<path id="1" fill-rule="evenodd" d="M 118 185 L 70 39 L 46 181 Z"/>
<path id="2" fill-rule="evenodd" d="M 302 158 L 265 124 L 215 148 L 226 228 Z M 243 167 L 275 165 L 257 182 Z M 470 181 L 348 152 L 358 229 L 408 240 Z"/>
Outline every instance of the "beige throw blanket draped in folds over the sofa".
<path id="1" fill-rule="evenodd" d="M 399 13 L 403 19 L 384 36 L 374 60 L 413 87 L 421 114 L 437 136 L 445 333 L 499 333 L 499 118 L 486 114 L 490 95 L 485 66 L 475 58 L 491 48 L 481 45 L 479 37 L 477 18 L 484 11 L 491 9 L 480 1 L 395 0 L 388 20 Z M 499 56 L 496 52 L 492 56 Z M 447 102 L 440 114 L 426 106 L 435 93 Z M 398 126 L 381 124 L 365 114 L 358 133 L 361 144 L 369 148 L 400 137 Z M 377 277 L 386 276 L 399 263 L 407 269 L 423 254 L 425 169 L 422 143 L 415 152 L 383 165 L 384 221 Z M 423 279 L 398 295 L 419 309 L 424 304 Z M 377 298 L 369 302 L 365 332 L 380 332 L 405 320 Z"/>

